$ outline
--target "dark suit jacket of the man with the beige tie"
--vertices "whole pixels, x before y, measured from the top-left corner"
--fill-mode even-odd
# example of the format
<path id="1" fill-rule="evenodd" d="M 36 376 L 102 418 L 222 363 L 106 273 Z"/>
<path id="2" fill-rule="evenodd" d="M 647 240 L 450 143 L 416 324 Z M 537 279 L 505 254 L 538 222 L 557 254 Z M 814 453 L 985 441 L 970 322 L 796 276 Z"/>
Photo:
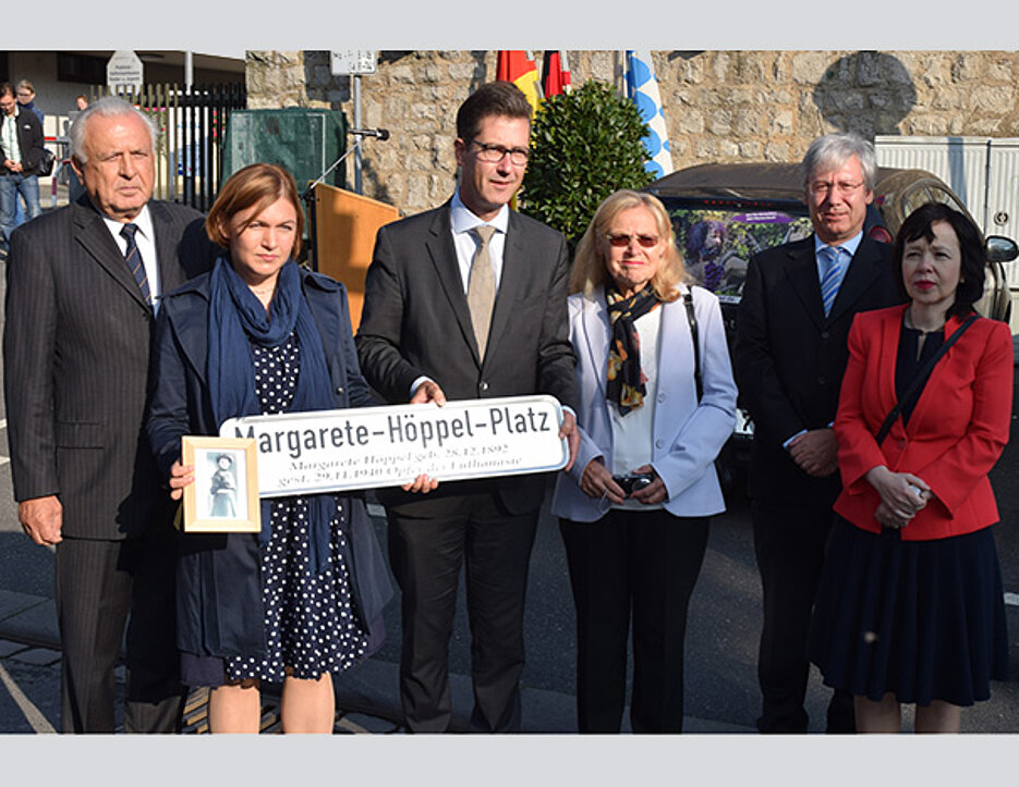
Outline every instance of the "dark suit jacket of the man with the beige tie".
<path id="1" fill-rule="evenodd" d="M 390 404 L 405 403 L 411 383 L 425 374 L 449 399 L 545 393 L 575 409 L 567 272 L 566 238 L 510 211 L 502 276 L 481 362 L 449 202 L 381 228 L 356 339 L 365 379 Z M 380 499 L 409 506 L 407 513 L 435 512 L 448 495 L 490 491 L 511 513 L 524 513 L 541 505 L 542 487 L 542 476 L 518 476 L 442 483 L 428 500 L 399 490 L 385 490 Z"/>

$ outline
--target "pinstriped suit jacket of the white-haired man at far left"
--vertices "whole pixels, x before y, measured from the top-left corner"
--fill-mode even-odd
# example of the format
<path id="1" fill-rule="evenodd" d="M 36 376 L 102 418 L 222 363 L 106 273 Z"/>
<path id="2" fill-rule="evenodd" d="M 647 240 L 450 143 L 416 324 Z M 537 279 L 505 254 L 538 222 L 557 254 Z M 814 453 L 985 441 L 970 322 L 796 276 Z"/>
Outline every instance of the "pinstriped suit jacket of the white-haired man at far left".
<path id="1" fill-rule="evenodd" d="M 151 201 L 163 292 L 206 270 L 202 214 Z M 56 494 L 63 534 L 138 534 L 167 507 L 142 431 L 151 309 L 87 196 L 11 235 L 3 332 L 14 497 Z"/>

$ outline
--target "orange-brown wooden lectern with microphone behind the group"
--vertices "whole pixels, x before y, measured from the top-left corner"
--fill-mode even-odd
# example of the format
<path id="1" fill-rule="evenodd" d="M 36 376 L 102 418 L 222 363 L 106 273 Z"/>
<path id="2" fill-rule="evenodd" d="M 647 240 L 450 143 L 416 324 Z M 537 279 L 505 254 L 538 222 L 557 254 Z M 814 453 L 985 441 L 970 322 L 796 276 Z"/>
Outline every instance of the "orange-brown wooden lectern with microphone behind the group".
<path id="1" fill-rule="evenodd" d="M 375 233 L 399 218 L 399 210 L 377 199 L 328 183 L 315 186 L 315 260 L 319 273 L 347 286 L 354 333 L 361 324 L 364 276 L 372 263 Z"/>

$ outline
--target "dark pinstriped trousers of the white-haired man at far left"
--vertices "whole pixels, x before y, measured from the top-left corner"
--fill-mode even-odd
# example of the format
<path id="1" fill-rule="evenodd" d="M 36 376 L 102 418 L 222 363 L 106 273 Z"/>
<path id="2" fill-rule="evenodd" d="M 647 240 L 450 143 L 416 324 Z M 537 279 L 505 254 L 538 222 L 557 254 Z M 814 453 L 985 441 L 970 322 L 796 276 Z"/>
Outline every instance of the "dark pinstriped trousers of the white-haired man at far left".
<path id="1" fill-rule="evenodd" d="M 180 731 L 186 691 L 179 677 L 175 571 L 172 531 L 57 544 L 62 731 L 114 731 L 113 671 L 122 643 L 124 731 Z"/>

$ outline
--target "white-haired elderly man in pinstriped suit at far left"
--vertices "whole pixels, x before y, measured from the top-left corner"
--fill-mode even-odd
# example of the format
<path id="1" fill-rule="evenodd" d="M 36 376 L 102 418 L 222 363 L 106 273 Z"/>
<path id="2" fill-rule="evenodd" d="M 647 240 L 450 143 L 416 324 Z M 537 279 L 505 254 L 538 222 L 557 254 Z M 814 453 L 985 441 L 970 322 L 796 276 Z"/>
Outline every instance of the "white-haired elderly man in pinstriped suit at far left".
<path id="1" fill-rule="evenodd" d="M 151 199 L 155 130 L 106 98 L 71 127 L 86 194 L 14 231 L 4 393 L 25 532 L 56 545 L 61 727 L 111 733 L 129 618 L 126 731 L 173 731 L 183 690 L 169 495 L 142 432 L 159 295 L 207 269 L 202 216 Z"/>

